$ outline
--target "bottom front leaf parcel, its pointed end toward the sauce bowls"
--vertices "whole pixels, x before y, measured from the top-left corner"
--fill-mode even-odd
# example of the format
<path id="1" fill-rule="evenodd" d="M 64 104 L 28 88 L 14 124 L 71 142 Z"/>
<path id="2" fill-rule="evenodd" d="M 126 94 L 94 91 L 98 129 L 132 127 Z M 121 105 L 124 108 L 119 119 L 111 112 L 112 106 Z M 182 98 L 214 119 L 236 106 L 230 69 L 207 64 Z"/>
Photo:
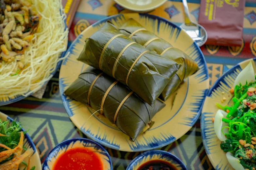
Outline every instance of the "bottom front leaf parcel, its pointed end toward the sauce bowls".
<path id="1" fill-rule="evenodd" d="M 79 77 L 68 87 L 64 92 L 71 99 L 79 101 L 85 105 L 88 105 L 88 93 L 91 84 L 94 79 L 101 74 L 101 70 L 97 70 L 93 67 L 88 67 L 84 70 Z M 156 100 L 155 106 L 151 107 L 146 102 L 142 101 L 135 93 L 132 93 L 121 105 L 121 108 L 117 114 L 116 121 L 114 117 L 120 103 L 131 92 L 131 90 L 124 86 L 122 83 L 117 82 L 111 90 L 107 93 L 103 107 L 101 102 L 105 93 L 115 82 L 114 78 L 111 78 L 107 74 L 100 75 L 92 86 L 90 92 L 90 106 L 95 110 L 102 108 L 104 116 L 115 123 L 116 126 L 130 137 L 132 141 L 136 139 L 138 135 L 143 131 L 145 126 L 151 122 L 151 119 L 155 114 L 160 111 L 165 104 L 160 100 Z"/>

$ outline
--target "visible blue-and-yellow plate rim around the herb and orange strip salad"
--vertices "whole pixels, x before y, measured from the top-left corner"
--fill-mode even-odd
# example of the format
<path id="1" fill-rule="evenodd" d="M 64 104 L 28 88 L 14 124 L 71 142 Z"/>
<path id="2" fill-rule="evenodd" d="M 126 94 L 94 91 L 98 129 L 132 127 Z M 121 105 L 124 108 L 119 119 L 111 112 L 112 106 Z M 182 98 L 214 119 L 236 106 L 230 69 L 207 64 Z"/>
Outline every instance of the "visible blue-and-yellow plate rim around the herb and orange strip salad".
<path id="1" fill-rule="evenodd" d="M 13 120 L 7 116 L 6 114 L 0 112 L 0 119 L 2 121 L 6 121 L 9 120 L 10 122 L 12 122 Z M 22 128 L 22 131 L 25 132 L 25 130 Z M 41 164 L 41 160 L 38 154 L 38 151 L 36 149 L 35 144 L 33 143 L 32 139 L 29 137 L 29 135 L 26 133 L 24 135 L 24 141 L 23 141 L 24 147 L 26 147 L 27 149 L 33 149 L 33 154 L 30 156 L 30 167 L 35 166 L 35 170 L 42 170 L 42 164 Z M 24 159 L 24 162 L 28 162 L 28 157 Z M 23 163 L 20 164 L 19 166 L 20 169 L 24 169 L 25 165 Z"/>

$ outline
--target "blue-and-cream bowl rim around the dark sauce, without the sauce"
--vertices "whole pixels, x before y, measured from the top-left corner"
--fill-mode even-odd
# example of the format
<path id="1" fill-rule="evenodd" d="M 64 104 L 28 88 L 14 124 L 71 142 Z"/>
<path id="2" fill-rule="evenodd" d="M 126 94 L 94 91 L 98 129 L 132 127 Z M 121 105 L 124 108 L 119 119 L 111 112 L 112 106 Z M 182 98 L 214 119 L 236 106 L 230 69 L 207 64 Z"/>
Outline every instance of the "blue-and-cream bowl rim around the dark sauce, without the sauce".
<path id="1" fill-rule="evenodd" d="M 137 170 L 142 164 L 153 160 L 161 160 L 170 163 L 176 167 L 177 170 L 188 170 L 178 157 L 163 150 L 150 150 L 140 154 L 134 160 L 132 160 L 126 170 Z"/>

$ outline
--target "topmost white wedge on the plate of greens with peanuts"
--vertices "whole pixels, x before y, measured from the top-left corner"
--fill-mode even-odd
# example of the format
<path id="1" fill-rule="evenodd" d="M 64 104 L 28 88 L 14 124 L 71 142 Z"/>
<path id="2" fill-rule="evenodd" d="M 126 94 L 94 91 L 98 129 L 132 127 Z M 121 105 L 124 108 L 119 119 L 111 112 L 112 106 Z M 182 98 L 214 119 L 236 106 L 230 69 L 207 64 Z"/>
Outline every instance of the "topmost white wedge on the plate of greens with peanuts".
<path id="1" fill-rule="evenodd" d="M 255 81 L 255 73 L 253 70 L 252 63 L 250 62 L 236 77 L 234 82 L 234 88 L 236 85 L 239 86 L 241 83 L 242 86 L 246 84 L 246 81 L 249 83 L 251 81 Z"/>

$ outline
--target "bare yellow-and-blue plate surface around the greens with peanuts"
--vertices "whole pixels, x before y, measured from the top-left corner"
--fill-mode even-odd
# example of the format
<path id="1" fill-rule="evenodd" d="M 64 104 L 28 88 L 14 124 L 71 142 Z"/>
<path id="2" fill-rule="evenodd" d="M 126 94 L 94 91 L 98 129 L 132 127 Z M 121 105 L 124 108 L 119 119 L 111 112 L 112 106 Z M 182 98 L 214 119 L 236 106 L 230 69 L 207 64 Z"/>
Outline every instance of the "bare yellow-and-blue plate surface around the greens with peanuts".
<path id="1" fill-rule="evenodd" d="M 232 100 L 233 95 L 229 91 L 233 87 L 238 74 L 249 64 L 250 61 L 252 61 L 253 68 L 256 70 L 256 58 L 246 60 L 230 68 L 230 70 L 223 74 L 214 83 L 204 102 L 201 116 L 201 132 L 203 144 L 207 156 L 209 157 L 213 167 L 216 170 L 232 170 L 233 168 L 227 160 L 226 152 L 220 149 L 221 141 L 218 139 L 214 132 L 214 125 L 212 120 L 218 110 L 215 104 L 220 103 L 223 97 L 227 98 L 224 103 L 221 103 L 223 106 L 227 105 L 230 100 Z"/>

